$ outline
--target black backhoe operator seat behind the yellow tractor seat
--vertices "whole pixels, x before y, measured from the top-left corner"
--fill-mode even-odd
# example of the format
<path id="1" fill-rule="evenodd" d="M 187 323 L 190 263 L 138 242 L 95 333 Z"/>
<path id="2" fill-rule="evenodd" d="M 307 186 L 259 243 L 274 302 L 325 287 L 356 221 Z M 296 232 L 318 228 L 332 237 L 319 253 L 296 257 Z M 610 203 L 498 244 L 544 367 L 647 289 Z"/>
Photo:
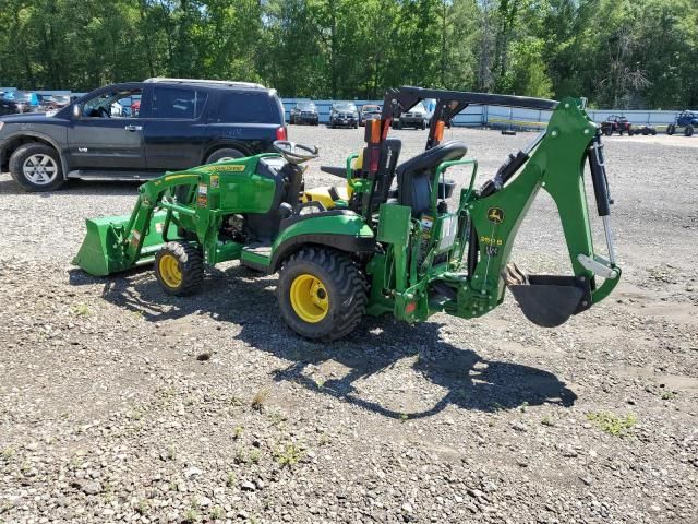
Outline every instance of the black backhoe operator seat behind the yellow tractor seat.
<path id="1" fill-rule="evenodd" d="M 400 164 L 397 174 L 398 202 L 412 207 L 412 216 L 418 217 L 429 210 L 432 194 L 433 175 L 442 162 L 458 160 L 468 153 L 462 142 L 444 142 L 424 153 Z"/>

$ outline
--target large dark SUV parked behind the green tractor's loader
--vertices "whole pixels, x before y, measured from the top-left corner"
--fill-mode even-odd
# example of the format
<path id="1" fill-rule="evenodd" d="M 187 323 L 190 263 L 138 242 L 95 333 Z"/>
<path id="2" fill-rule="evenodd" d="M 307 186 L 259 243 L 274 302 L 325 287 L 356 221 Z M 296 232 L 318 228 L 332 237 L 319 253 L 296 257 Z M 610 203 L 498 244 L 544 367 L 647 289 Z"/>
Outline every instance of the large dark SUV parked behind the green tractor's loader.
<path id="1" fill-rule="evenodd" d="M 115 103 L 141 96 L 136 114 Z M 131 103 L 133 104 L 133 103 Z M 93 91 L 55 115 L 0 117 L 0 168 L 27 191 L 68 178 L 140 180 L 286 140 L 276 91 L 242 82 L 151 79 Z"/>

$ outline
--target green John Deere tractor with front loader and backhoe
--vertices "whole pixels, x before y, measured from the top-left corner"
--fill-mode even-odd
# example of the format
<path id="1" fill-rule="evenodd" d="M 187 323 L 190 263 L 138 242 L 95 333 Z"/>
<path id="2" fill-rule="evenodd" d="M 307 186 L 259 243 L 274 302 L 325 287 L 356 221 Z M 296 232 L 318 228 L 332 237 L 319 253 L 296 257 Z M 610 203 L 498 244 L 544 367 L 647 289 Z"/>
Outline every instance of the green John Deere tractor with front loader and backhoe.
<path id="1" fill-rule="evenodd" d="M 390 123 L 426 98 L 437 100 L 426 150 L 398 164 L 401 144 L 388 139 Z M 547 129 L 479 189 L 466 145 L 443 142 L 445 122 L 469 104 L 553 111 Z M 73 263 L 91 275 L 154 264 L 165 293 L 177 296 L 200 289 L 206 265 L 229 260 L 278 272 L 284 320 L 325 342 L 351 333 L 364 314 L 406 322 L 440 311 L 481 317 L 502 303 L 506 288 L 528 319 L 555 326 L 617 285 L 603 148 L 581 100 L 389 90 L 381 119 L 366 122 L 365 142 L 345 167 L 322 168 L 341 177 L 339 187 L 305 189 L 303 163 L 317 150 L 284 141 L 275 143 L 278 153 L 168 172 L 141 186 L 130 216 L 88 219 Z M 592 245 L 587 162 L 609 260 Z M 470 166 L 471 177 L 454 195 L 446 175 L 458 165 Z M 568 276 L 526 275 L 509 262 L 541 188 L 557 205 Z"/>

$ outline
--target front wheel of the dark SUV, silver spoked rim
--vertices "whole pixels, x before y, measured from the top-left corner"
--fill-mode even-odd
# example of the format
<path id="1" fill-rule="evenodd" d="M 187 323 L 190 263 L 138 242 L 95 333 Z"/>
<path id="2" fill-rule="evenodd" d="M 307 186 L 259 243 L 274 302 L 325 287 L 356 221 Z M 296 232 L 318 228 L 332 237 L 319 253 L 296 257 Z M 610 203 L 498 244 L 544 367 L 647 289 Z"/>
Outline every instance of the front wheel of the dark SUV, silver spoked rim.
<path id="1" fill-rule="evenodd" d="M 10 157 L 10 174 L 25 191 L 53 191 L 61 187 L 63 169 L 55 148 L 39 143 L 19 147 Z"/>

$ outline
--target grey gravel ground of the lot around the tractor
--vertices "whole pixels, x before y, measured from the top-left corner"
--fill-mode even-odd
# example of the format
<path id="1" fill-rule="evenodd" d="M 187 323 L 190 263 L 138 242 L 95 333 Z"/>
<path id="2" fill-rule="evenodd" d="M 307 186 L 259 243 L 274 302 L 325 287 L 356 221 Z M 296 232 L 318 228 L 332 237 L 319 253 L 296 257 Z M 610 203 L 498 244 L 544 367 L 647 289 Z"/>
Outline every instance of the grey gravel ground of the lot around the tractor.
<path id="1" fill-rule="evenodd" d="M 290 134 L 341 165 L 361 132 Z M 449 133 L 482 180 L 533 136 Z M 394 134 L 402 158 L 423 147 Z M 237 263 L 188 299 L 72 267 L 84 219 L 128 213 L 135 186 L 0 175 L 0 522 L 698 522 L 698 139 L 605 143 L 610 299 L 554 330 L 508 298 L 333 345 Z M 528 270 L 566 267 L 551 202 L 521 228 Z"/>

